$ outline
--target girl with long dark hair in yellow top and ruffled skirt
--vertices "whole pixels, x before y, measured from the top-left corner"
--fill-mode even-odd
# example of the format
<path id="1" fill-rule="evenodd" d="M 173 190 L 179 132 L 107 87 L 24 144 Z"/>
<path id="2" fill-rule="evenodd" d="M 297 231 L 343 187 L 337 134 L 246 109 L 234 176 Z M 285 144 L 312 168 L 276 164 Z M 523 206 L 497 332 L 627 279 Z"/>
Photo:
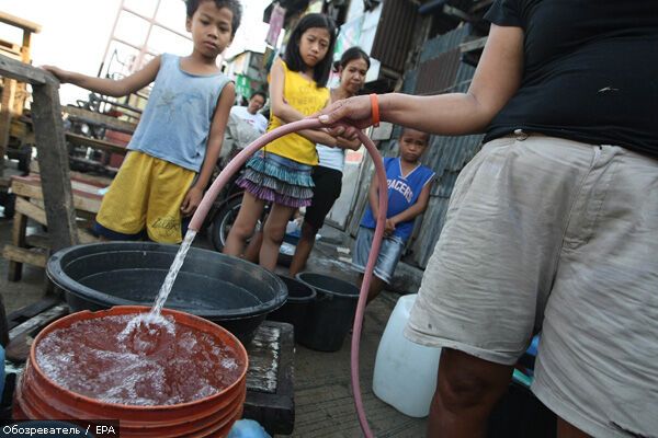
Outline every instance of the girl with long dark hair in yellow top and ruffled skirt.
<path id="1" fill-rule="evenodd" d="M 297 23 L 284 58 L 276 59 L 272 66 L 269 130 L 300 120 L 327 105 L 329 90 L 325 85 L 331 68 L 328 54 L 333 51 L 334 42 L 336 27 L 330 18 L 313 13 Z M 318 163 L 316 142 L 334 147 L 353 147 L 355 143 L 332 138 L 324 131 L 305 130 L 270 142 L 247 162 L 247 170 L 238 180 L 245 196 L 228 233 L 225 254 L 242 254 L 265 203 L 271 201 L 259 263 L 274 269 L 288 219 L 297 208 L 308 206 L 313 197 L 310 171 Z"/>

